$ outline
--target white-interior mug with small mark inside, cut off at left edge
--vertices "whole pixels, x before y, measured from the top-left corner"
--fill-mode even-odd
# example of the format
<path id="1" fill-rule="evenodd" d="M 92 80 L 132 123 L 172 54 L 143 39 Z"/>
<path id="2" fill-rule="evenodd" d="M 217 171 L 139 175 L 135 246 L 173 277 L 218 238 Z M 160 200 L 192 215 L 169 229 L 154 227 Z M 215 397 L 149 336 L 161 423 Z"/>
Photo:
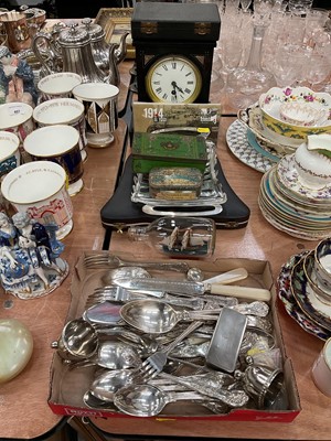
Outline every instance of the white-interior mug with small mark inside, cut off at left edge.
<path id="1" fill-rule="evenodd" d="M 35 128 L 32 115 L 33 107 L 25 103 L 6 103 L 0 105 L 0 130 L 10 131 L 19 138 L 21 162 L 30 161 L 29 155 L 23 149 L 23 141 Z"/>

